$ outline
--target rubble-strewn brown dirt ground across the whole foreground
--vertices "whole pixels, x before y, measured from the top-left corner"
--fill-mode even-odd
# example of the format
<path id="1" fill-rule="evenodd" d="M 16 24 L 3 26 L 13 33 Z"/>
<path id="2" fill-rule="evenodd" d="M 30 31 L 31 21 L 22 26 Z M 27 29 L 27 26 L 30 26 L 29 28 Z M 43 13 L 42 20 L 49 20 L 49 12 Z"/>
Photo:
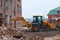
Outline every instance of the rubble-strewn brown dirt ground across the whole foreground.
<path id="1" fill-rule="evenodd" d="M 0 31 L 0 40 L 60 40 L 60 30 L 40 32 L 31 32 L 30 30 L 15 31 L 15 29 L 8 30 Z"/>

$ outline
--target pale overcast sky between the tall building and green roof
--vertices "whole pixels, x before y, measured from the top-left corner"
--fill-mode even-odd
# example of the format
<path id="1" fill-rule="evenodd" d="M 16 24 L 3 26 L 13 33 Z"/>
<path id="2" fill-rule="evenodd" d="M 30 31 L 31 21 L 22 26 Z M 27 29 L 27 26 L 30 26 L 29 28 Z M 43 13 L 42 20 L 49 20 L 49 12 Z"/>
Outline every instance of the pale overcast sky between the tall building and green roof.
<path id="1" fill-rule="evenodd" d="M 22 16 L 32 18 L 33 15 L 41 14 L 47 17 L 47 13 L 60 6 L 60 0 L 22 0 Z"/>

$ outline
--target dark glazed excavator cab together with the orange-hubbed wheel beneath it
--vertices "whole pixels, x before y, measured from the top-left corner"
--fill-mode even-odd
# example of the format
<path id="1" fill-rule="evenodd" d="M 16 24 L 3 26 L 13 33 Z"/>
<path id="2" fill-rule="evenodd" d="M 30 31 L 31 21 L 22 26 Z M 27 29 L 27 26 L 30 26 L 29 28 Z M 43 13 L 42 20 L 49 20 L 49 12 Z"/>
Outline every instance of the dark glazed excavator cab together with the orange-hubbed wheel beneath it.
<path id="1" fill-rule="evenodd" d="M 42 16 L 33 16 L 32 31 L 40 31 L 42 22 Z"/>

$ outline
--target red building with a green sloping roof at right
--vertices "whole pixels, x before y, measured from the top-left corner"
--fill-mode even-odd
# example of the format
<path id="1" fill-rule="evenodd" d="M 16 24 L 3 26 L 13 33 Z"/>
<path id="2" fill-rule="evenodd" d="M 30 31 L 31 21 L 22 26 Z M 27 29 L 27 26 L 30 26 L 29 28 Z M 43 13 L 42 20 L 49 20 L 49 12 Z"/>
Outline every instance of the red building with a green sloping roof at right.
<path id="1" fill-rule="evenodd" d="M 48 20 L 54 24 L 60 23 L 60 7 L 51 10 L 48 13 Z"/>

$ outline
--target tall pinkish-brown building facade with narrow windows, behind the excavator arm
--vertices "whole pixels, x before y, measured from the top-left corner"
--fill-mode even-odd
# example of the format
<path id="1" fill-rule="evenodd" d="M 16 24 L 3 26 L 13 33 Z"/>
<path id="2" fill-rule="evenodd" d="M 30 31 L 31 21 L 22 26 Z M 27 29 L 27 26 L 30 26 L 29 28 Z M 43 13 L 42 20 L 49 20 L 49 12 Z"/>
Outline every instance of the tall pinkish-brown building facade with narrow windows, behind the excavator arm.
<path id="1" fill-rule="evenodd" d="M 20 24 L 18 22 L 10 21 L 12 18 L 22 16 L 21 0 L 0 0 L 0 18 L 5 25 L 13 25 L 16 27 Z M 0 22 L 2 24 L 2 22 Z"/>

